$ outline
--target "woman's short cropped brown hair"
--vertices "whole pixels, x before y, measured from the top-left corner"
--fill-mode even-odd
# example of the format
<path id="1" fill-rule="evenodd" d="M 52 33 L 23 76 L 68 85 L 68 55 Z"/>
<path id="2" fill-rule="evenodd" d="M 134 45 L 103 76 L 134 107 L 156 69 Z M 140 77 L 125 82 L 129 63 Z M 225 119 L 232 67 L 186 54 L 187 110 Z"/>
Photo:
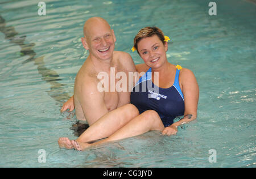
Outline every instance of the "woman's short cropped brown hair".
<path id="1" fill-rule="evenodd" d="M 144 27 L 134 37 L 134 48 L 137 49 L 137 52 L 138 52 L 138 42 L 141 41 L 143 38 L 151 37 L 151 36 L 154 36 L 154 35 L 157 35 L 159 37 L 159 39 L 164 44 L 164 33 L 160 28 L 158 28 L 158 27 Z"/>

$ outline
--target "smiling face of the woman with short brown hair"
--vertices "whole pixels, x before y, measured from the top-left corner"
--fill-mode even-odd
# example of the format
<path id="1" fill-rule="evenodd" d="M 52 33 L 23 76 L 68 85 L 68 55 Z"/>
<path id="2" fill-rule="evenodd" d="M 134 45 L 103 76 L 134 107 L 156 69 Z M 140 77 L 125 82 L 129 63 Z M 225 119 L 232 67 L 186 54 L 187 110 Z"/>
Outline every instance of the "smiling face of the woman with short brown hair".
<path id="1" fill-rule="evenodd" d="M 167 42 L 163 42 L 158 36 L 145 37 L 138 42 L 137 50 L 144 63 L 152 69 L 158 69 L 166 63 Z"/>

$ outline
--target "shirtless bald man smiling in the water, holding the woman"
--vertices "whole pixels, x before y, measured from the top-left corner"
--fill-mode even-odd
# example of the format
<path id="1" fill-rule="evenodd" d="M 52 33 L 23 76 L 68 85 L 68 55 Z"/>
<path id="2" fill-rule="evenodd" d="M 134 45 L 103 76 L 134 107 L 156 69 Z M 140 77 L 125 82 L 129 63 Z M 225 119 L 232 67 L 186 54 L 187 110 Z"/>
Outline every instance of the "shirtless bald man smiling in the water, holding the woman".
<path id="1" fill-rule="evenodd" d="M 111 110 L 130 103 L 129 89 L 117 92 L 110 92 L 110 86 L 116 83 L 110 80 L 110 69 L 114 73 L 135 72 L 133 59 L 128 53 L 114 51 L 115 35 L 105 19 L 94 17 L 88 19 L 84 24 L 84 37 L 81 37 L 82 45 L 89 50 L 89 56 L 77 73 L 74 87 L 74 96 L 63 105 L 61 111 L 70 108 L 75 104 L 76 117 L 80 121 L 87 121 L 89 126 Z M 99 73 L 106 73 L 109 76 L 109 90 L 100 92 L 97 78 Z M 129 86 L 127 80 L 127 87 Z M 133 82 L 130 82 L 133 83 Z M 131 85 L 133 86 L 133 85 Z"/>

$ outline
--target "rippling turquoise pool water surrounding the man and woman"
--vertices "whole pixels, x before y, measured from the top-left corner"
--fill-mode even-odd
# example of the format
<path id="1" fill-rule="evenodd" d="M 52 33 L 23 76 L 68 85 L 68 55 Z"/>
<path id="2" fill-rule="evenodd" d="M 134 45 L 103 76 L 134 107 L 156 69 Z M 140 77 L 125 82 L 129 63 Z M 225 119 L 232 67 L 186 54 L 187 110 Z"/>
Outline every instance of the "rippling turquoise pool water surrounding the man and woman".
<path id="1" fill-rule="evenodd" d="M 255 167 L 256 5 L 248 1 L 0 2 L 0 167 Z M 60 113 L 88 56 L 86 19 L 108 20 L 116 50 L 131 52 L 139 29 L 170 36 L 168 61 L 191 69 L 200 87 L 196 121 L 172 137 L 150 132 L 84 152 L 59 149 L 76 139 L 74 113 Z M 40 163 L 38 151 L 46 151 Z M 210 163 L 209 150 L 216 163 Z"/>

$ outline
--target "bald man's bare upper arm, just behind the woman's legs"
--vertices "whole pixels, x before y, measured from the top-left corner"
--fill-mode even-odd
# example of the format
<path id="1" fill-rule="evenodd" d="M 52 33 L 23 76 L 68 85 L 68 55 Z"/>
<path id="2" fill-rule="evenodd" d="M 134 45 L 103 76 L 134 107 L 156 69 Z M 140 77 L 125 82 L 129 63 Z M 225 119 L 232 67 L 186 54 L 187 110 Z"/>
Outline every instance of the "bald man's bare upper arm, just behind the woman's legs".
<path id="1" fill-rule="evenodd" d="M 90 81 L 82 84 L 77 99 L 82 107 L 82 112 L 89 125 L 92 125 L 99 118 L 108 113 L 104 101 L 104 92 L 97 89 L 98 81 Z"/>

